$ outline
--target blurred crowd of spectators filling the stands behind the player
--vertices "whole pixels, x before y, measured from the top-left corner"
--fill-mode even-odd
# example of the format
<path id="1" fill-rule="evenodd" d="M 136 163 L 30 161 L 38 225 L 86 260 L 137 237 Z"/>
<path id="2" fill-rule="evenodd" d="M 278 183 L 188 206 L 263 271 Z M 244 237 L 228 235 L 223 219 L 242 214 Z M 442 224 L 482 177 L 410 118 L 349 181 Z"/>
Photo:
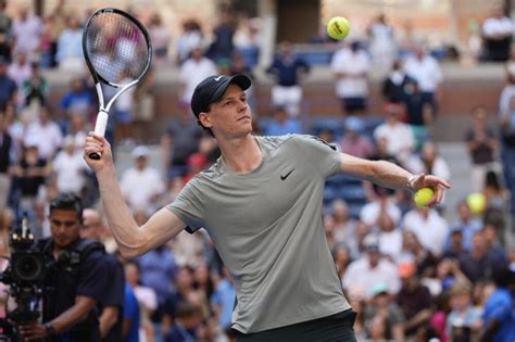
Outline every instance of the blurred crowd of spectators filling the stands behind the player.
<path id="1" fill-rule="evenodd" d="M 98 105 L 95 87 L 84 73 L 80 47 L 81 27 L 90 13 L 66 13 L 63 4 L 58 1 L 46 17 L 26 8 L 10 17 L 5 2 L 0 1 L 3 256 L 10 253 L 10 229 L 18 226 L 21 213 L 28 214 L 37 238 L 50 235 L 48 201 L 61 192 L 76 193 L 86 207 L 98 210 L 88 229 L 97 227 L 106 250 L 116 254 L 102 217 L 96 178 L 81 151 Z M 202 134 L 189 112 L 191 94 L 200 80 L 213 74 L 244 73 L 255 79 L 253 58 L 261 39 L 259 21 L 241 17 L 235 22 L 228 13 L 219 16 L 209 35 L 201 23 L 185 21 L 173 48 L 169 29 L 159 13 L 145 24 L 155 65 L 178 69 L 180 115 L 160 137 L 161 164 L 151 163 L 151 147 L 138 145 L 131 149 L 133 165 L 120 175 L 123 194 L 139 224 L 173 201 L 191 177 L 219 156 L 215 140 Z M 483 48 L 474 50 L 475 43 L 469 45 L 478 60 L 506 65 L 499 113 L 487 113 L 470 99 L 469 129 L 463 137 L 473 165 L 469 195 L 459 203 L 444 201 L 440 207 L 426 208 L 415 207 L 406 192 L 361 181 L 353 183 L 355 192 L 346 192 L 346 186 L 338 192 L 335 189 L 347 180 L 328 181 L 324 203 L 327 240 L 343 289 L 359 313 L 354 329 L 362 340 L 515 338 L 515 246 L 508 244 L 514 239 L 506 239 L 513 236 L 510 218 L 515 214 L 515 201 L 511 201 L 515 193 L 513 31 L 513 22 L 497 10 L 483 23 Z M 329 67 L 341 114 L 307 123 L 302 80 L 312 65 L 290 42 L 280 43 L 265 69 L 274 81 L 269 91 L 275 111 L 255 119 L 255 132 L 317 135 L 344 153 L 388 160 L 412 173 L 450 180 L 453 170 L 432 139 L 444 78 L 440 61 L 419 41 L 404 39 L 409 42 L 397 43 L 394 28 L 379 16 L 372 22 L 366 39 L 338 46 Z M 174 50 L 173 61 L 169 49 Z M 372 115 L 368 76 L 377 65 L 388 69 L 381 80 L 385 105 L 382 113 Z M 51 85 L 41 73 L 41 68 L 54 67 L 79 75 L 72 77 L 56 103 L 50 101 Z M 106 132 L 113 144 L 145 140 L 145 131 L 134 123 L 154 117 L 153 73 L 115 102 Z M 252 88 L 248 99 L 255 109 Z M 498 125 L 490 127 L 487 117 L 492 115 Z M 445 211 L 455 211 L 457 219 L 445 219 Z M 181 232 L 166 245 L 123 264 L 126 282 L 139 303 L 139 341 L 234 339 L 235 290 L 203 230 Z"/>

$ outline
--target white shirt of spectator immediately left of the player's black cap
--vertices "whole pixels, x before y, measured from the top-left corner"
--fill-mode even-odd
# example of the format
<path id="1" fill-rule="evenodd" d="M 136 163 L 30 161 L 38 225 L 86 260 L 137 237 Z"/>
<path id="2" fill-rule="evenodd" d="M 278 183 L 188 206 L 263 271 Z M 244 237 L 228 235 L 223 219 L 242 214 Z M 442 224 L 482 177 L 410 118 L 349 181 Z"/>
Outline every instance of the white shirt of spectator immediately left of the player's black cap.
<path id="1" fill-rule="evenodd" d="M 192 59 L 187 60 L 183 66 L 180 66 L 179 78 L 180 81 L 186 86 L 185 92 L 181 94 L 180 100 L 184 103 L 190 103 L 191 97 L 193 96 L 194 88 L 204 78 L 216 75 L 218 72 L 213 61 L 202 58 L 200 61 Z"/>

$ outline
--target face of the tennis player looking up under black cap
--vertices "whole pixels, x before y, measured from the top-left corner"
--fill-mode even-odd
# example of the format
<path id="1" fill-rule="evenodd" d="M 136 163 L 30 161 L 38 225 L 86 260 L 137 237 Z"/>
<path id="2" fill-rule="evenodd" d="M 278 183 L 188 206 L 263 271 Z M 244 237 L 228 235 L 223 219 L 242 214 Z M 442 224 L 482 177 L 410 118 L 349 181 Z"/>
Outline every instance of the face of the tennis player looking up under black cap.
<path id="1" fill-rule="evenodd" d="M 237 85 L 230 85 L 211 111 L 201 114 L 204 127 L 211 128 L 215 137 L 239 137 L 252 132 L 252 114 L 247 96 Z"/>

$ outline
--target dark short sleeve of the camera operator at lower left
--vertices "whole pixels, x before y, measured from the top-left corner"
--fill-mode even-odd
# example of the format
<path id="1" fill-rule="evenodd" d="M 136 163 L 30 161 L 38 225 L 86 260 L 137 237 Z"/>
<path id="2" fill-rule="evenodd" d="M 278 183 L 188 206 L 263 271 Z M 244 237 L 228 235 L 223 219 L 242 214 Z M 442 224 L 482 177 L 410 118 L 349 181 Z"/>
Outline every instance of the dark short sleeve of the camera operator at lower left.
<path id="1" fill-rule="evenodd" d="M 91 252 L 81 265 L 76 294 L 102 301 L 109 284 L 108 277 L 108 264 L 104 254 Z"/>

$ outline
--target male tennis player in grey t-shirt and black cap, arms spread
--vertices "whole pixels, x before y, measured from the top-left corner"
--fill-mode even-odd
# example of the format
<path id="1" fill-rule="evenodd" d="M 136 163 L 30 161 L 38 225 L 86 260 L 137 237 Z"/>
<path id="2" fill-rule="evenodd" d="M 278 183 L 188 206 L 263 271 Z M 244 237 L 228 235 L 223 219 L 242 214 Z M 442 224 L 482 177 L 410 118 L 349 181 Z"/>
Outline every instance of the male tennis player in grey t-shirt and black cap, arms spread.
<path id="1" fill-rule="evenodd" d="M 235 281 L 238 341 L 355 341 L 355 314 L 322 221 L 326 178 L 347 173 L 392 189 L 431 187 L 430 205 L 450 186 L 388 162 L 339 153 L 314 137 L 255 137 L 243 92 L 250 86 L 243 75 L 211 76 L 197 86 L 191 110 L 216 138 L 222 156 L 141 227 L 123 200 L 108 141 L 91 134 L 85 157 L 97 173 L 109 226 L 127 257 L 185 228 L 204 227 Z M 91 152 L 102 159 L 88 159 Z"/>

